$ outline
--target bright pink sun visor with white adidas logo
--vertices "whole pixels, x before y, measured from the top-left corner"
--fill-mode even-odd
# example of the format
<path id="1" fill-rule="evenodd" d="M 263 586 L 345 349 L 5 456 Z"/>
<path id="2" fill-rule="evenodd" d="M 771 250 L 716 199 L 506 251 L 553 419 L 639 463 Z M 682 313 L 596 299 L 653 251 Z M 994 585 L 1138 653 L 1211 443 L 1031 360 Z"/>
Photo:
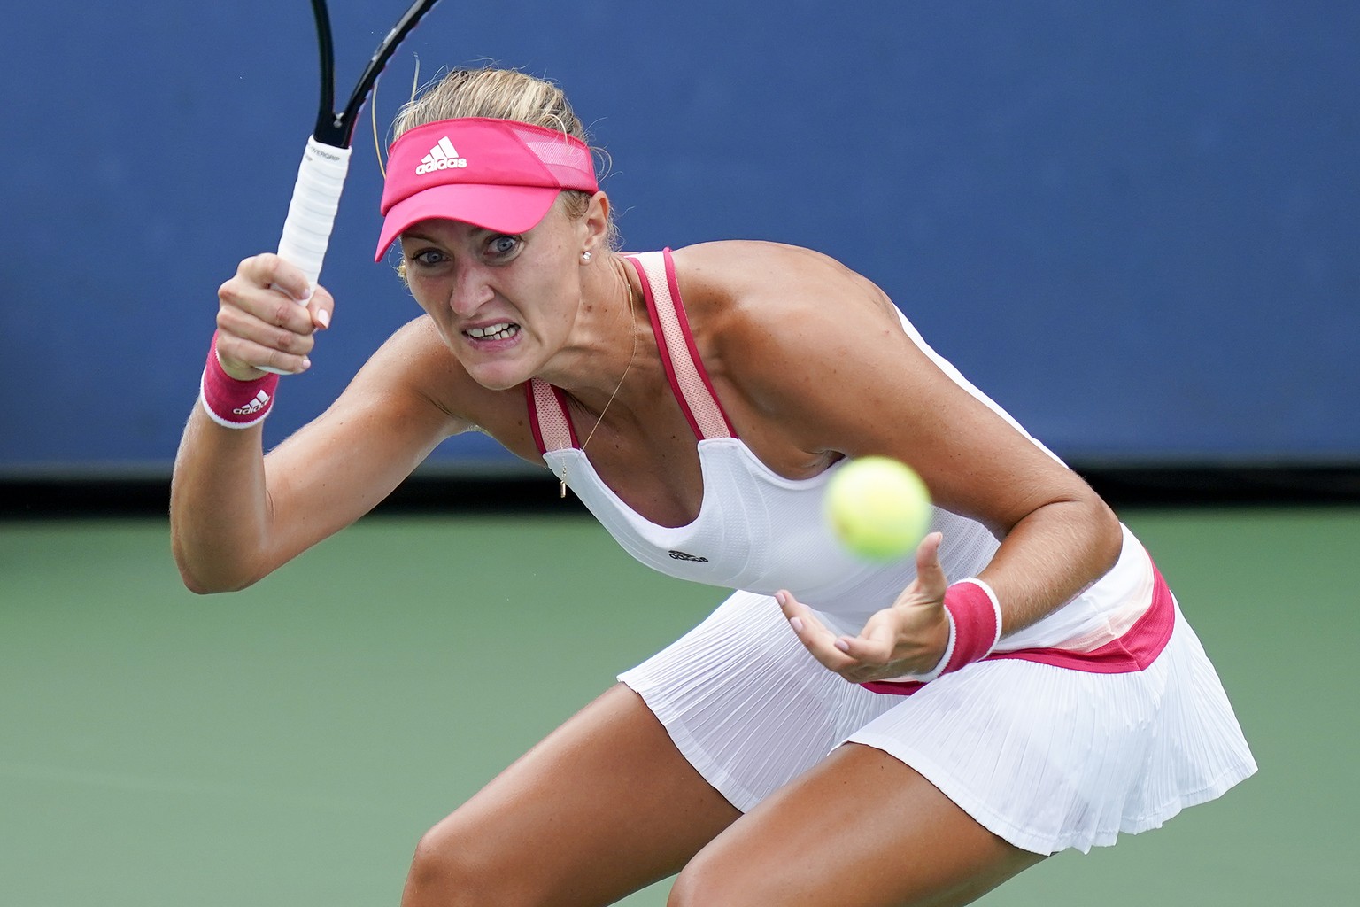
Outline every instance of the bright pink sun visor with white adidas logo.
<path id="1" fill-rule="evenodd" d="M 401 133 L 389 151 L 374 261 L 419 220 L 525 233 L 563 189 L 598 188 L 590 148 L 566 133 L 483 117 L 427 122 Z"/>

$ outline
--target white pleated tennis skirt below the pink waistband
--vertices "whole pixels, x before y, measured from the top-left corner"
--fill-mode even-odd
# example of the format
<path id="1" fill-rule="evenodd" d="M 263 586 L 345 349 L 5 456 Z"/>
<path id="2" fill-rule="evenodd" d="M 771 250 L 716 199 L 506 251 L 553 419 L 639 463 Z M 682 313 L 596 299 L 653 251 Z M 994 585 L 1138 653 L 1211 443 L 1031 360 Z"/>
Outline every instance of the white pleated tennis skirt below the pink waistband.
<path id="1" fill-rule="evenodd" d="M 891 696 L 823 668 L 772 598 L 738 592 L 619 680 L 743 812 L 857 742 L 900 759 L 985 828 L 1038 854 L 1085 853 L 1156 828 L 1257 768 L 1179 608 L 1167 647 L 1140 672 L 1008 658 Z"/>

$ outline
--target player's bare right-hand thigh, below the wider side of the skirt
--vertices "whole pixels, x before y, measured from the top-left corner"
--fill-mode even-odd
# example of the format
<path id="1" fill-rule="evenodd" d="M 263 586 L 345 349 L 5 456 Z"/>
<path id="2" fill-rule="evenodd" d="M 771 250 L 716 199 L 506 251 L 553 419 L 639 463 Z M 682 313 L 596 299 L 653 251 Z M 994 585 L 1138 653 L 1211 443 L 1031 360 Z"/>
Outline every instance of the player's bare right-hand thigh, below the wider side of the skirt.
<path id="1" fill-rule="evenodd" d="M 847 744 L 714 839 L 670 904 L 945 907 L 1042 859 L 979 825 L 907 764 Z"/>

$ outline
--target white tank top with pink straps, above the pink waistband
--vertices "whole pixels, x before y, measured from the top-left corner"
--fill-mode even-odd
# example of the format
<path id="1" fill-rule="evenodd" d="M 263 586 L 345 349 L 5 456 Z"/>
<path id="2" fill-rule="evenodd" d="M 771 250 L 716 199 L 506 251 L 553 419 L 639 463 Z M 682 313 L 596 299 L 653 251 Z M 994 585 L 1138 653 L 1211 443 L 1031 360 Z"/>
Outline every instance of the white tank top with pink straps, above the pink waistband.
<path id="1" fill-rule="evenodd" d="M 679 579 L 728 589 L 763 594 L 787 589 L 817 611 L 834 630 L 858 632 L 869 615 L 891 605 L 913 581 L 914 553 L 885 564 L 872 564 L 845 552 L 830 532 L 821 499 L 831 476 L 849 461 L 842 460 L 811 479 L 800 480 L 785 479 L 760 462 L 736 437 L 709 382 L 690 333 L 669 249 L 630 256 L 628 261 L 642 280 L 672 390 L 698 441 L 703 476 L 699 515 L 684 526 L 660 526 L 626 504 L 600 479 L 581 450 L 562 392 L 534 378 L 528 385 L 529 417 L 544 462 L 571 487 L 609 534 L 649 567 Z M 906 317 L 900 313 L 899 317 L 903 330 L 936 366 L 1030 438 L 996 403 L 936 354 Z M 951 579 L 975 575 L 991 559 L 998 540 L 975 519 L 942 507 L 932 510 L 930 529 L 944 534 L 940 560 L 945 575 Z M 1140 570 L 1140 563 L 1144 570 Z M 1127 612 L 1119 621 L 1125 624 L 1122 630 L 1127 630 L 1130 616 L 1136 620 L 1148 609 L 1151 567 L 1141 547 L 1125 530 L 1125 553 L 1111 574 L 1059 612 L 1004 639 L 998 650 L 1049 647 L 1077 640 L 1083 650 L 1091 650 L 1108 643 L 1114 638 L 1111 606 Z M 1141 606 L 1130 609 L 1136 602 L 1125 594 L 1111 597 L 1111 585 L 1136 592 L 1136 598 L 1142 600 Z M 1100 586 L 1106 586 L 1106 594 L 1096 596 L 1102 604 L 1095 611 L 1102 613 L 1083 606 L 1072 611 L 1091 593 L 1099 593 Z M 1065 619 L 1055 620 L 1064 612 L 1068 612 Z"/>

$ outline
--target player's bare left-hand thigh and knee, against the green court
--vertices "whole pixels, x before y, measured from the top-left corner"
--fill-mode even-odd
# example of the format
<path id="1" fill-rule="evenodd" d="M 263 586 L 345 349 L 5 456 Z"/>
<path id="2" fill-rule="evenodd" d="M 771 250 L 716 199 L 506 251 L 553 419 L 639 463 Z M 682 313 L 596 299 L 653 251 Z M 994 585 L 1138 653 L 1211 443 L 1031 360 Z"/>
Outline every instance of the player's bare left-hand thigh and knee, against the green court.
<path id="1" fill-rule="evenodd" d="M 608 904 L 738 815 L 620 684 L 422 839 L 403 904 Z"/>

